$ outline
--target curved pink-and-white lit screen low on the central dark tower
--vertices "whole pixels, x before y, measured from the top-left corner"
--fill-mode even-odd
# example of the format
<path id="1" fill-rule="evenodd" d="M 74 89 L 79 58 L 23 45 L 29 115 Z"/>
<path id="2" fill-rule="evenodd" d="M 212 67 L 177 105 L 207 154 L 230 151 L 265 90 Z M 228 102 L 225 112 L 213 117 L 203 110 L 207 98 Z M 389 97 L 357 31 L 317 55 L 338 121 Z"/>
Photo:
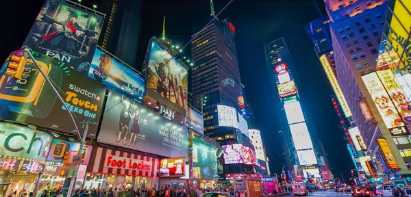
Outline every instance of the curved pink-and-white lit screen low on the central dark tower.
<path id="1" fill-rule="evenodd" d="M 223 146 L 223 157 L 225 164 L 244 163 L 256 165 L 257 158 L 254 150 L 242 144 L 231 144 Z"/>

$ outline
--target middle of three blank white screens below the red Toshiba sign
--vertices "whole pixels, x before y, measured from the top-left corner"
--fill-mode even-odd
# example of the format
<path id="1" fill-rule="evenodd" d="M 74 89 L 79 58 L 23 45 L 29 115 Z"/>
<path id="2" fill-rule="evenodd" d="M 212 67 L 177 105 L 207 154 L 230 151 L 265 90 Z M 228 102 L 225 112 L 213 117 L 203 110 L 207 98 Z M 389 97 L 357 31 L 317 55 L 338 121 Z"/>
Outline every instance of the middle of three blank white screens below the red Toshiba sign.
<path id="1" fill-rule="evenodd" d="M 312 148 L 311 137 L 310 133 L 308 133 L 306 122 L 290 124 L 290 130 L 292 135 L 292 142 L 294 142 L 295 149 L 301 150 Z"/>

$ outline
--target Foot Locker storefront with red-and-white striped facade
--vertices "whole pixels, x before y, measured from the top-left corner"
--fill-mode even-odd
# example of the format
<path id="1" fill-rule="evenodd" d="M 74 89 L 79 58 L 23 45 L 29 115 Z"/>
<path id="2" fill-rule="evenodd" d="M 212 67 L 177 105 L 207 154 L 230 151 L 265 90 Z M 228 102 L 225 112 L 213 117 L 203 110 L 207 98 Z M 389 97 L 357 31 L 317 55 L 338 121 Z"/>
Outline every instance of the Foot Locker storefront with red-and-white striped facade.
<path id="1" fill-rule="evenodd" d="M 84 187 L 142 188 L 158 185 L 160 159 L 101 146 L 92 148 Z"/>

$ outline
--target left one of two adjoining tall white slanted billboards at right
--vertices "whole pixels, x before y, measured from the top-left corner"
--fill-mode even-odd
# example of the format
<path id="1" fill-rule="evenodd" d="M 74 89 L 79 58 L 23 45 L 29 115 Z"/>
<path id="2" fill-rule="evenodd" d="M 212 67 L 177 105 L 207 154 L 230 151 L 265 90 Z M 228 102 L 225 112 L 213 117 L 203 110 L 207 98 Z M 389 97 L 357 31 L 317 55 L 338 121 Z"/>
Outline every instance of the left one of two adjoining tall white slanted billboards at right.
<path id="1" fill-rule="evenodd" d="M 364 75 L 362 76 L 362 80 L 373 98 L 375 107 L 377 107 L 379 114 L 382 116 L 382 120 L 384 120 L 386 127 L 390 130 L 391 135 L 408 135 L 405 128 L 401 129 L 405 124 L 401 120 L 397 109 L 395 109 L 381 81 L 379 81 L 377 74 L 370 73 Z"/>

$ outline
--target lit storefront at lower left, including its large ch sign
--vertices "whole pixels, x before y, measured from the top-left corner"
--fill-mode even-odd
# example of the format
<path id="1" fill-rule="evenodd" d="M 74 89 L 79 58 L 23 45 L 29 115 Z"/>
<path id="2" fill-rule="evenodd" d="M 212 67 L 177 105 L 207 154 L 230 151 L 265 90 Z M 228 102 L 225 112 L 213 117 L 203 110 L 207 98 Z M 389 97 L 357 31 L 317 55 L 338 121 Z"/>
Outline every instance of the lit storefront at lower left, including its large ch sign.
<path id="1" fill-rule="evenodd" d="M 25 189 L 32 192 L 45 170 L 53 137 L 47 133 L 0 122 L 0 196 Z"/>

